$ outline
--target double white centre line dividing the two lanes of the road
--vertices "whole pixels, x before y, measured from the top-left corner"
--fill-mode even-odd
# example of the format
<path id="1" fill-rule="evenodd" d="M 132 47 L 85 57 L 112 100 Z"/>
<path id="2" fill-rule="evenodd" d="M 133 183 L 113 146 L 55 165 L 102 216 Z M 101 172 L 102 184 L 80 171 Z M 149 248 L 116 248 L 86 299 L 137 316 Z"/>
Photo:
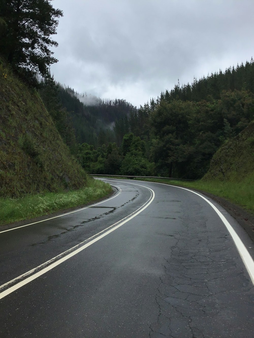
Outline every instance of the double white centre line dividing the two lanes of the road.
<path id="1" fill-rule="evenodd" d="M 134 184 L 134 183 L 130 183 L 130 184 Z M 140 209 L 140 208 L 137 209 L 138 211 L 135 211 L 134 214 L 132 213 L 132 214 L 133 214 L 133 215 L 131 214 L 132 216 L 130 216 L 130 217 L 127 216 L 127 217 L 128 217 L 127 219 L 125 219 L 125 220 L 122 221 L 120 224 L 116 225 L 115 227 L 111 228 L 111 229 L 108 230 L 106 233 L 104 233 L 104 234 L 100 235 L 99 237 L 97 237 L 97 238 L 91 240 L 91 241 L 88 242 L 87 244 L 82 245 L 80 248 L 76 249 L 75 251 L 72 251 L 70 254 L 68 254 L 68 255 L 66 255 L 65 257 L 59 259 L 58 261 L 56 261 L 56 262 L 54 262 L 54 263 L 48 265 L 47 267 L 45 267 L 44 269 L 42 269 L 42 270 L 36 272 L 35 274 L 33 274 L 33 275 L 27 277 L 26 279 L 24 279 L 24 280 L 22 280 L 21 282 L 19 282 L 19 283 L 13 285 L 12 287 L 8 288 L 7 290 L 2 291 L 2 292 L 0 293 L 0 299 L 2 299 L 3 297 L 7 296 L 8 294 L 10 294 L 10 293 L 16 291 L 17 289 L 21 288 L 22 286 L 24 286 L 24 285 L 30 283 L 31 281 L 35 280 L 36 278 L 38 278 L 38 277 L 41 276 L 42 274 L 44 274 L 44 273 L 46 273 L 47 271 L 49 271 L 49 270 L 55 268 L 55 267 L 58 266 L 59 264 L 65 262 L 67 259 L 71 258 L 72 256 L 77 255 L 80 251 L 84 250 L 85 248 L 87 248 L 87 247 L 90 246 L 91 244 L 93 244 L 93 243 L 99 241 L 100 239 L 102 239 L 103 237 L 107 236 L 108 234 L 110 234 L 111 232 L 113 232 L 114 230 L 118 229 L 120 226 L 122 226 L 123 224 L 127 223 L 129 220 L 131 220 L 132 218 L 134 218 L 135 216 L 137 216 L 138 214 L 140 214 L 143 210 L 145 210 L 145 209 L 152 203 L 152 201 L 154 200 L 155 193 L 154 193 L 154 191 L 153 191 L 152 189 L 150 189 L 150 188 L 148 188 L 148 187 L 141 186 L 141 185 L 139 185 L 139 184 L 134 184 L 134 185 L 140 186 L 140 187 L 144 187 L 144 188 L 150 190 L 150 192 L 151 192 L 151 196 L 150 196 L 150 198 L 148 199 L 148 201 L 147 201 L 146 203 L 144 203 L 143 206 L 140 207 L 140 208 L 143 207 L 142 209 Z M 117 195 L 116 195 L 116 196 L 117 196 Z M 114 196 L 114 197 L 116 197 L 116 196 Z M 113 197 L 112 197 L 112 198 L 113 198 Z M 97 204 L 99 204 L 99 203 L 97 203 Z M 95 205 L 95 204 L 94 204 L 94 205 Z M 115 224 L 117 224 L 117 223 L 115 223 Z M 113 224 L 113 225 L 114 225 L 114 224 Z M 111 227 L 112 227 L 113 225 L 111 225 Z M 104 230 L 103 230 L 103 231 L 104 231 Z M 100 233 L 99 233 L 99 234 L 100 234 Z M 96 235 L 94 235 L 94 236 L 96 236 Z M 87 240 L 86 240 L 86 241 L 87 241 Z M 78 244 L 78 245 L 80 245 L 80 244 Z M 74 248 L 74 247 L 73 247 L 73 248 Z M 73 249 L 73 248 L 71 248 L 71 249 Z M 71 249 L 68 249 L 67 251 L 69 251 L 69 250 L 71 250 Z M 67 252 L 67 251 L 65 251 L 65 252 Z M 64 254 L 64 253 L 63 253 L 63 254 Z M 63 255 L 63 254 L 60 254 L 60 255 Z M 60 255 L 58 255 L 58 256 L 60 256 Z M 56 257 L 58 257 L 58 256 L 56 256 Z M 55 258 L 52 258 L 51 260 L 54 260 L 54 259 L 55 259 Z M 51 260 L 50 260 L 50 261 L 51 261 Z M 48 262 L 49 262 L 49 261 L 48 261 Z M 41 264 L 40 266 L 42 266 L 42 265 L 44 265 L 44 264 L 46 264 L 46 263 L 47 263 L 47 262 Z M 40 267 L 40 266 L 39 266 L 39 267 Z M 34 268 L 34 269 L 30 270 L 30 271 L 33 272 L 33 271 L 35 271 L 35 270 L 36 270 L 37 268 L 39 268 L 39 267 L 36 267 L 36 268 Z M 16 277 L 16 278 L 15 278 L 14 280 L 12 280 L 12 281 L 9 281 L 9 282 L 3 284 L 2 286 L 0 286 L 0 289 L 3 288 L 4 286 L 6 286 L 7 284 L 13 282 L 13 281 L 15 281 L 15 280 L 17 280 L 17 279 L 20 279 L 22 276 L 25 276 L 25 275 L 28 274 L 30 271 L 28 271 L 28 272 L 26 272 L 26 273 L 20 275 L 19 277 Z"/>

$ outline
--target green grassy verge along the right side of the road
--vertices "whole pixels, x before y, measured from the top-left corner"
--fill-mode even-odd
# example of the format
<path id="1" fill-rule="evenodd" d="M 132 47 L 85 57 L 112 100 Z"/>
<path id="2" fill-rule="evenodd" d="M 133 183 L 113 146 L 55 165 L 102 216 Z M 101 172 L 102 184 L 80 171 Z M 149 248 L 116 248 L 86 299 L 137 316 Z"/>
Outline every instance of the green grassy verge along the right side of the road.
<path id="1" fill-rule="evenodd" d="M 114 176 L 112 176 L 114 178 Z M 119 177 L 115 177 L 119 178 Z M 196 180 L 177 181 L 163 178 L 136 178 L 147 182 L 157 182 L 203 190 L 213 195 L 223 197 L 226 200 L 238 205 L 251 214 L 254 214 L 254 174 L 248 175 L 241 182 L 221 181 L 221 180 Z"/>

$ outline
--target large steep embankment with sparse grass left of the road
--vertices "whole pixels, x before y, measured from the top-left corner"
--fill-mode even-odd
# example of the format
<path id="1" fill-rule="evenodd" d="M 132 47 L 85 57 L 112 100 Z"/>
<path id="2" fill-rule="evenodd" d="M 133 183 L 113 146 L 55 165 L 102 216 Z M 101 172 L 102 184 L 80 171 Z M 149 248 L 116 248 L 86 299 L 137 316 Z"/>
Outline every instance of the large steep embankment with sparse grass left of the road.
<path id="1" fill-rule="evenodd" d="M 86 179 L 36 90 L 0 60 L 0 197 L 77 189 Z"/>

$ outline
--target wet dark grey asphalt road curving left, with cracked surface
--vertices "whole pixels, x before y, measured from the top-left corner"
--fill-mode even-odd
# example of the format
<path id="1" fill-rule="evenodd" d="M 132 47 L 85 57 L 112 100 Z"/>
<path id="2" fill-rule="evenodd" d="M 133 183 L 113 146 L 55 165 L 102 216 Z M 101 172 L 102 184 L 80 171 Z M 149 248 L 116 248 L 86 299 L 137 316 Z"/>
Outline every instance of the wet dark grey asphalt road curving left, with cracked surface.
<path id="1" fill-rule="evenodd" d="M 177 187 L 108 182 L 118 191 L 101 204 L 0 233 L 3 285 L 151 202 L 0 299 L 0 337 L 253 337 L 254 287 L 211 206 Z M 248 235 L 213 204 L 253 256 Z"/>

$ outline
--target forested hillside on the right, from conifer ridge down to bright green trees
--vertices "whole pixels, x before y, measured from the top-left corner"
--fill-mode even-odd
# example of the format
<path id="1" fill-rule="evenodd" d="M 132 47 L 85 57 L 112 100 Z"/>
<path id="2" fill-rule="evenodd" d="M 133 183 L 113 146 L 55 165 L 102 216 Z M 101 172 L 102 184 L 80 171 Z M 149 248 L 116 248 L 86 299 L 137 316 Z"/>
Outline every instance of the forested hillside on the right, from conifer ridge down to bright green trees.
<path id="1" fill-rule="evenodd" d="M 99 135 L 97 146 L 89 140 L 79 146 L 79 160 L 98 174 L 201 178 L 216 150 L 254 119 L 253 77 L 251 58 L 192 84 L 178 83 L 120 115 L 113 137 Z"/>

